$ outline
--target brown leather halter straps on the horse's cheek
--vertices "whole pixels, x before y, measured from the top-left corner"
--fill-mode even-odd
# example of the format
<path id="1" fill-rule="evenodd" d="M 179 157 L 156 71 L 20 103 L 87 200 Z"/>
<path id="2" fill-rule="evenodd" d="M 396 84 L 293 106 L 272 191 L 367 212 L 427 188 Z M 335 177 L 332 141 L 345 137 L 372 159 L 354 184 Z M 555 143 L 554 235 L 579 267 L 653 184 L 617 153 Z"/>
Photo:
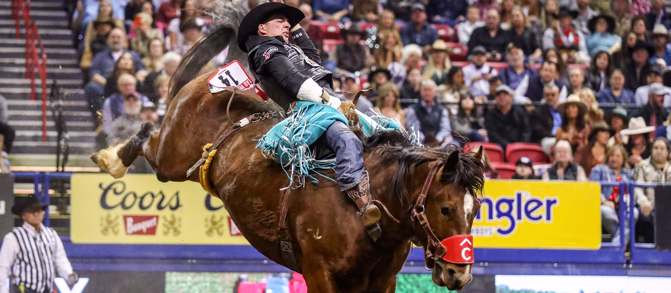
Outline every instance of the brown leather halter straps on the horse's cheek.
<path id="1" fill-rule="evenodd" d="M 426 180 L 424 181 L 424 187 L 422 187 L 421 194 L 419 194 L 419 197 L 417 197 L 417 203 L 415 203 L 415 207 L 410 212 L 411 220 L 413 220 L 413 222 L 417 222 L 424 229 L 424 232 L 426 233 L 428 238 L 425 251 L 426 263 L 428 263 L 429 259 L 431 259 L 432 261 L 435 261 L 436 259 L 442 259 L 447 253 L 447 249 L 445 248 L 445 246 L 442 245 L 442 243 L 440 243 L 440 239 L 438 239 L 438 237 L 435 236 L 435 233 L 433 233 L 433 230 L 429 225 L 429 220 L 427 220 L 426 214 L 424 213 L 424 204 L 426 202 L 426 196 L 429 192 L 429 187 L 431 187 L 431 182 L 433 182 L 433 177 L 435 177 L 435 173 L 438 171 L 438 168 L 440 168 L 440 166 L 443 163 L 444 160 L 440 160 L 436 161 L 435 164 L 433 164 L 433 167 L 431 167 L 431 171 L 429 171 L 429 175 L 426 177 Z M 428 266 L 427 269 L 429 269 Z"/>

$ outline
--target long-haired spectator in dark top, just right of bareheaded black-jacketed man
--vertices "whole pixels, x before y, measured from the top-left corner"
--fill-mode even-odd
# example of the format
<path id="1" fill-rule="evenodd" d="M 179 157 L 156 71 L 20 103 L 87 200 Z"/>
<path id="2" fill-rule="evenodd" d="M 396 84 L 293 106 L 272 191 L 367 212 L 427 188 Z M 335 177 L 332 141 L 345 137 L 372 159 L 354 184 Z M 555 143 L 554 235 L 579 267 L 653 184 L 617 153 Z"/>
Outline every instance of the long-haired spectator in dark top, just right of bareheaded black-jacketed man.
<path id="1" fill-rule="evenodd" d="M 538 44 L 537 32 L 529 26 L 529 21 L 519 6 L 513 8 L 511 25 L 510 42 L 522 49 L 524 56 L 528 56 L 529 62 L 536 62 L 543 51 Z"/>

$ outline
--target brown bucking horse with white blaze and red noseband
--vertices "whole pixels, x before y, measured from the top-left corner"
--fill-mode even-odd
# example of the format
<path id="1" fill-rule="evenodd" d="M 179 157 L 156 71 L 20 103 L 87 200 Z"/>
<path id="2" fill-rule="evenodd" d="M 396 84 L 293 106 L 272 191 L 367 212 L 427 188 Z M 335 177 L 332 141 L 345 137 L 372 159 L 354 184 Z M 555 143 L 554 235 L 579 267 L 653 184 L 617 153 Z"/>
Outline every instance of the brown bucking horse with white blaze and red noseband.
<path id="1" fill-rule="evenodd" d="M 289 184 L 285 170 L 264 157 L 254 141 L 283 119 L 275 103 L 253 92 L 211 93 L 207 79 L 213 72 L 197 76 L 215 54 L 236 43 L 245 11 L 220 6 L 209 34 L 187 52 L 172 77 L 160 131 L 146 122 L 130 140 L 91 159 L 114 177 L 123 176 L 138 156 L 144 156 L 160 181 L 207 180 L 210 192 L 223 202 L 249 243 L 268 259 L 301 272 L 310 293 L 393 293 L 413 243 L 425 250 L 425 266 L 433 269 L 435 284 L 460 290 L 470 282 L 472 250 L 455 251 L 460 243 L 454 240 L 469 239 L 480 207 L 482 149 L 464 154 L 454 145 L 418 147 L 397 131 L 366 138 L 371 194 L 387 210 L 380 220 L 384 233 L 373 241 L 356 215 L 356 205 L 335 182 L 308 180 L 302 187 L 289 188 L 290 193 L 281 190 Z M 236 46 L 229 46 L 228 58 L 246 65 Z M 216 152 L 203 156 L 203 147 L 225 132 L 230 133 L 217 143 Z M 203 157 L 207 174 L 187 176 Z M 293 259 L 282 253 L 287 245 Z M 460 255 L 462 261 L 451 255 Z"/>

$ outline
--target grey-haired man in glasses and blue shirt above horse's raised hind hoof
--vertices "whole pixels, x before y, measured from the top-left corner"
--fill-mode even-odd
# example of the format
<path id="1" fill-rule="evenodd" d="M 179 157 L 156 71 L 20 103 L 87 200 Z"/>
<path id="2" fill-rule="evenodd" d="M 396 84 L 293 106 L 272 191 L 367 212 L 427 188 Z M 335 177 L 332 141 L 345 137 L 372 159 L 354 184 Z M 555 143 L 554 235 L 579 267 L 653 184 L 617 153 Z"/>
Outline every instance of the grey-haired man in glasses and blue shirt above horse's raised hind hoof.
<path id="1" fill-rule="evenodd" d="M 136 91 L 137 82 L 133 75 L 127 73 L 119 76 L 119 92 L 107 97 L 103 105 L 103 133 L 109 134 L 112 122 L 125 113 L 126 110 L 123 107 L 124 101 L 128 99 L 138 99 L 139 103 L 149 101 L 146 95 L 142 95 Z"/>

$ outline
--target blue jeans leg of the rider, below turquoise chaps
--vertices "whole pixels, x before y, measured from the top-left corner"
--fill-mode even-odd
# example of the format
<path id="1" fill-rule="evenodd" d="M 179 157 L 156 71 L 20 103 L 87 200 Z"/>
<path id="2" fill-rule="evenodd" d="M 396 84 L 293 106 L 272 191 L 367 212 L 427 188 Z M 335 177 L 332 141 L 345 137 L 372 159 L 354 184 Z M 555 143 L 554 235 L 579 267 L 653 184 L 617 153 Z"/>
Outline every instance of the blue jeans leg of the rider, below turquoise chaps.
<path id="1" fill-rule="evenodd" d="M 317 142 L 335 153 L 335 181 L 338 181 L 340 190 L 356 186 L 366 170 L 364 146 L 358 136 L 343 122 L 336 121 L 321 134 Z"/>

